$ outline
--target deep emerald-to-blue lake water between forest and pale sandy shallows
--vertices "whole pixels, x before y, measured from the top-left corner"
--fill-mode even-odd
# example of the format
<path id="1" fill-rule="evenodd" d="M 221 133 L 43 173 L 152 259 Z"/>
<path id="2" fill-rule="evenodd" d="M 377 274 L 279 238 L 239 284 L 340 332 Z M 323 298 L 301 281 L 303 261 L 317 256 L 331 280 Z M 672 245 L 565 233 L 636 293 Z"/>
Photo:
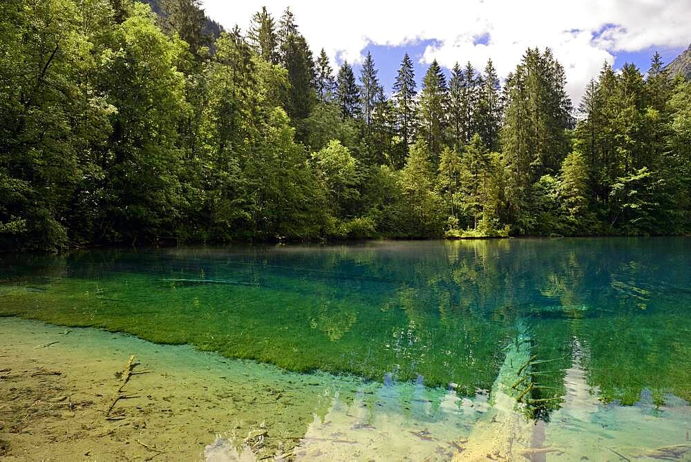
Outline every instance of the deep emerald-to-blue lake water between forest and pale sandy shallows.
<path id="1" fill-rule="evenodd" d="M 3 256 L 0 315 L 460 398 L 508 367 L 520 412 L 549 422 L 575 369 L 600 405 L 691 401 L 690 263 L 691 238 Z"/>

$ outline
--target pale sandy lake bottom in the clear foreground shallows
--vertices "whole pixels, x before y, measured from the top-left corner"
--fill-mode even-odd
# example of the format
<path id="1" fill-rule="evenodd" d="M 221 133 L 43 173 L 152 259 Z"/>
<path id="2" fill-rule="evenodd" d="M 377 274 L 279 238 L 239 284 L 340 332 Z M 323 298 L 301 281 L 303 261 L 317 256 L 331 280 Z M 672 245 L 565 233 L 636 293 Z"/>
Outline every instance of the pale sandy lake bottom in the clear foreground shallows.
<path id="1" fill-rule="evenodd" d="M 118 393 L 131 355 L 135 367 Z M 636 405 L 604 405 L 579 361 L 575 354 L 566 371 L 560 409 L 542 421 L 503 393 L 501 373 L 492 390 L 466 397 L 422 378 L 287 372 L 100 329 L 0 318 L 0 456 L 691 460 L 685 401 L 670 395 L 655 405 L 644 391 Z"/>

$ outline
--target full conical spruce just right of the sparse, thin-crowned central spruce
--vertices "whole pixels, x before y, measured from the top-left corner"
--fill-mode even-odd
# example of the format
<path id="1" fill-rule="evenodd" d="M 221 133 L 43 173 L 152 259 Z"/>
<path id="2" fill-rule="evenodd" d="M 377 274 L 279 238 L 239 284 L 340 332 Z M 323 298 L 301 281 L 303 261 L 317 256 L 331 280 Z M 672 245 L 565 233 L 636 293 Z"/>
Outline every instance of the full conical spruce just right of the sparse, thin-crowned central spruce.
<path id="1" fill-rule="evenodd" d="M 419 115 L 427 146 L 435 160 L 445 144 L 446 111 L 448 108 L 448 88 L 442 68 L 435 59 L 430 64 L 422 81 Z"/>

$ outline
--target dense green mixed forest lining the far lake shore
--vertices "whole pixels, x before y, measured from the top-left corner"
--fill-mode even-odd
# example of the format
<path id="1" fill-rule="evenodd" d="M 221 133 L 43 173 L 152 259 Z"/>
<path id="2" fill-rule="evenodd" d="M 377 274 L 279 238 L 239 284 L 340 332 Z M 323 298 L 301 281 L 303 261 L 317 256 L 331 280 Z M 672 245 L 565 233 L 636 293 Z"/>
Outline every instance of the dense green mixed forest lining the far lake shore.
<path id="1" fill-rule="evenodd" d="M 0 249 L 691 231 L 691 83 L 658 54 L 574 105 L 549 48 L 419 88 L 404 55 L 383 88 L 290 9 L 154 10 L 0 3 Z"/>

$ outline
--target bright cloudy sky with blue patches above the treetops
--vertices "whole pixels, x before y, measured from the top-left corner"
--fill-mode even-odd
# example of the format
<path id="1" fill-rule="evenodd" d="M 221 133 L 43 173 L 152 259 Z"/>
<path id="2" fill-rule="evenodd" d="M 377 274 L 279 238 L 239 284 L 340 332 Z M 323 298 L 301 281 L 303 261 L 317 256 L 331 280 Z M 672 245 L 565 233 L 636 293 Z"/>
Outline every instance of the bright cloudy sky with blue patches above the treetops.
<path id="1" fill-rule="evenodd" d="M 668 63 L 691 43 L 691 0 L 202 0 L 207 16 L 226 29 L 247 30 L 266 6 L 276 22 L 287 6 L 316 56 L 321 48 L 337 68 L 347 59 L 359 75 L 369 51 L 387 93 L 405 52 L 419 82 L 437 59 L 484 68 L 491 58 L 500 78 L 529 47 L 549 47 L 565 67 L 567 91 L 578 105 L 603 63 L 634 63 L 645 71 L 657 50 Z"/>

